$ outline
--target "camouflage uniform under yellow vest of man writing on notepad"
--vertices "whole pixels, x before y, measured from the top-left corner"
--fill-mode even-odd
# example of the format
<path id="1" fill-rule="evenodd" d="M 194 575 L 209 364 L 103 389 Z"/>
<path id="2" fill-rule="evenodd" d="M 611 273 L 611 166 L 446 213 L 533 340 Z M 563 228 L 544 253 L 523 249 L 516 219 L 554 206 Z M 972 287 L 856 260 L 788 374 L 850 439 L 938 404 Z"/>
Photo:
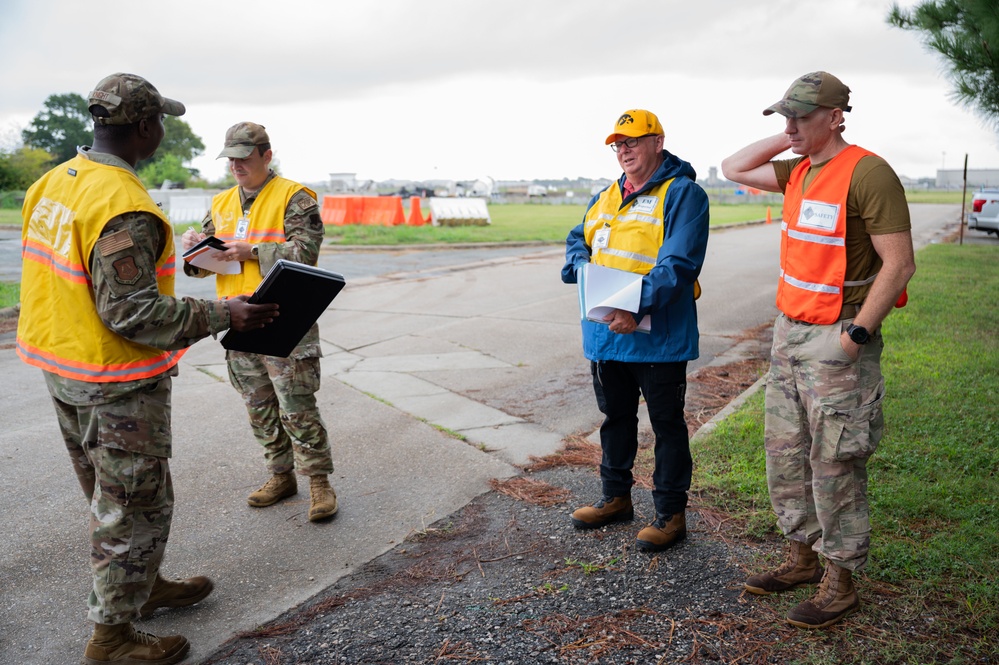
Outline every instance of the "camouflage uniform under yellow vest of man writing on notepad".
<path id="1" fill-rule="evenodd" d="M 274 177 L 273 171 L 259 192 Z M 256 193 L 239 190 L 243 210 L 253 204 Z M 211 213 L 201 223 L 202 231 L 214 235 Z M 256 245 L 260 272 L 278 259 L 316 265 L 324 228 L 319 204 L 305 191 L 291 197 L 284 217 L 285 242 Z M 193 277 L 214 275 L 188 263 L 184 272 Z M 288 358 L 241 351 L 227 351 L 229 380 L 243 396 L 253 435 L 264 448 L 264 459 L 272 474 L 298 470 L 304 476 L 333 473 L 326 425 L 316 404 L 320 385 L 319 326 L 313 325 Z"/>

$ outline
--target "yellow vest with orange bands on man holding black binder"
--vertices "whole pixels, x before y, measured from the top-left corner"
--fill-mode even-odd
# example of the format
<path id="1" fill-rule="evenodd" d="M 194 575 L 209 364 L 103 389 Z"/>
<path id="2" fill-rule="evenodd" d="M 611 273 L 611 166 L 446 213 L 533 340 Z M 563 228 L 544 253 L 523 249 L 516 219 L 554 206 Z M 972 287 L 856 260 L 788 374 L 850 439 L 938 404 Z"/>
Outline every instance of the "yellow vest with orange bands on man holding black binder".
<path id="1" fill-rule="evenodd" d="M 21 212 L 21 360 L 91 383 L 147 379 L 177 364 L 186 349 L 126 339 L 104 325 L 94 303 L 91 253 L 104 226 L 128 212 L 162 222 L 170 242 L 156 260 L 156 280 L 161 293 L 173 295 L 173 227 L 132 171 L 74 157 L 31 186 Z"/>

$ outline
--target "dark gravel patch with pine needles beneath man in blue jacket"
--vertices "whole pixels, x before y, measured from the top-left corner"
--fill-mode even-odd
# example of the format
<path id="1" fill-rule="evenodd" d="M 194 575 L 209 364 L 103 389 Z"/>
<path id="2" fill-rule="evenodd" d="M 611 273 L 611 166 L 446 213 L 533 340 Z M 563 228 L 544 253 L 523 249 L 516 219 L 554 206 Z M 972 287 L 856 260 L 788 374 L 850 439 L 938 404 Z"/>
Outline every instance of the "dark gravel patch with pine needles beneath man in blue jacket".
<path id="1" fill-rule="evenodd" d="M 594 470 L 522 478 L 562 502 L 484 494 L 203 662 L 734 662 L 759 639 L 738 563 L 752 553 L 708 533 L 697 512 L 685 541 L 650 555 L 633 546 L 652 517 L 647 490 L 633 494 L 633 522 L 578 531 L 568 514 L 594 498 Z"/>

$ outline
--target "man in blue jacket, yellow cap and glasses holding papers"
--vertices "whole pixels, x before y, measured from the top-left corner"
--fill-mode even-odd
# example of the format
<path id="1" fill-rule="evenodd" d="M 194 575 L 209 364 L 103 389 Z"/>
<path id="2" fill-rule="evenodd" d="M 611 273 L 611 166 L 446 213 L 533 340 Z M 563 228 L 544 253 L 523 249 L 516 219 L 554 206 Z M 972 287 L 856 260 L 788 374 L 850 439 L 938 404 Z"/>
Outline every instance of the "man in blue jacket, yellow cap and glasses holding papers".
<path id="1" fill-rule="evenodd" d="M 655 434 L 655 519 L 638 534 L 658 552 L 687 534 L 692 462 L 683 406 L 687 361 L 697 358 L 697 276 L 708 244 L 708 197 L 693 167 L 663 149 L 655 114 L 623 113 L 605 143 L 624 173 L 590 201 L 566 238 L 562 281 L 576 283 L 587 263 L 642 275 L 637 312 L 613 310 L 604 322 L 583 319 L 600 426 L 602 498 L 579 508 L 572 523 L 595 529 L 634 518 L 632 467 L 638 451 L 638 405 L 645 397 Z M 636 332 L 646 316 L 650 332 Z"/>

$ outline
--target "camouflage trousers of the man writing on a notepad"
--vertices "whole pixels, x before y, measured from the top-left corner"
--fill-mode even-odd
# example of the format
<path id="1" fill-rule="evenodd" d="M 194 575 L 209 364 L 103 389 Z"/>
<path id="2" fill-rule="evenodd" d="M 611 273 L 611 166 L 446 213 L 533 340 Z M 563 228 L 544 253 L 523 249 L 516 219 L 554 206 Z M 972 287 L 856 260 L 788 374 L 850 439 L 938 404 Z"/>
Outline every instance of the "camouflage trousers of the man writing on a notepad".
<path id="1" fill-rule="evenodd" d="M 333 473 L 319 408 L 319 358 L 277 358 L 229 351 L 229 380 L 243 396 L 250 427 L 271 473 Z"/>

